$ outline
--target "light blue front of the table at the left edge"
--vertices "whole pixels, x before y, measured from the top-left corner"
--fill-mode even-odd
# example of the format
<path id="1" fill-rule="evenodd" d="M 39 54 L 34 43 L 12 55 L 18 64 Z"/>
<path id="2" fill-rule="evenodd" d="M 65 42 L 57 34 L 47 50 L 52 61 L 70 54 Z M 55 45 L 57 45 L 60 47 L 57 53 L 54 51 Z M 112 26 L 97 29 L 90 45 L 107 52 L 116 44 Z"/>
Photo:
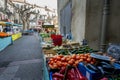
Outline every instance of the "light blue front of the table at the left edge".
<path id="1" fill-rule="evenodd" d="M 12 37 L 5 37 L 5 38 L 0 38 L 0 51 L 5 49 L 7 46 L 12 44 Z"/>

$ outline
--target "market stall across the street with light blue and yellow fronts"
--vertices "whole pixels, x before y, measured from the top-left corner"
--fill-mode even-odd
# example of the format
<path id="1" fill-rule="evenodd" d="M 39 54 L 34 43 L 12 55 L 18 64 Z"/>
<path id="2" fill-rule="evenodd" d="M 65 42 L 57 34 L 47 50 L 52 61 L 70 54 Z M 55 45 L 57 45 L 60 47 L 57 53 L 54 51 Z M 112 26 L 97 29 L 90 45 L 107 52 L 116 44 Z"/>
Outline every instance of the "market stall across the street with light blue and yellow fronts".
<path id="1" fill-rule="evenodd" d="M 11 22 L 0 21 L 0 51 L 22 36 L 20 29 L 15 26 L 18 25 L 13 25 Z"/>

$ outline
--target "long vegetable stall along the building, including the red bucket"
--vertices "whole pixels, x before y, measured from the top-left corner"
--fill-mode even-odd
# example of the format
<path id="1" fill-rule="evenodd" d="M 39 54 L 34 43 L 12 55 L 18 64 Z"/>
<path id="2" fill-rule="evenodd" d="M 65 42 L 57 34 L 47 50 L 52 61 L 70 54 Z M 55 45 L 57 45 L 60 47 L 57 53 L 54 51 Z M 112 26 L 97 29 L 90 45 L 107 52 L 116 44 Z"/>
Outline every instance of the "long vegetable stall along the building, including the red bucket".
<path id="1" fill-rule="evenodd" d="M 47 32 L 48 29 L 40 35 L 46 42 L 42 44 L 44 80 L 120 80 L 120 45 L 103 53 L 92 49 L 86 41 L 80 45 Z"/>

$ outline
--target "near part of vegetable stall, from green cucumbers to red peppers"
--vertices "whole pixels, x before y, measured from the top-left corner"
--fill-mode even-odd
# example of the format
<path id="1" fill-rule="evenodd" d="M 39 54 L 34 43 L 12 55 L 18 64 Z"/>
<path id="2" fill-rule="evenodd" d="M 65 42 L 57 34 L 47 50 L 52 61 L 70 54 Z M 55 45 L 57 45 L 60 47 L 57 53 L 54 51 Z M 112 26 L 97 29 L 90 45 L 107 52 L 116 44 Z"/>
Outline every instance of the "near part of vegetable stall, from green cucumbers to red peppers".
<path id="1" fill-rule="evenodd" d="M 50 50 L 54 52 L 47 54 L 54 55 L 45 56 L 49 80 L 120 80 L 120 62 L 107 53 L 89 46 L 56 46 Z"/>

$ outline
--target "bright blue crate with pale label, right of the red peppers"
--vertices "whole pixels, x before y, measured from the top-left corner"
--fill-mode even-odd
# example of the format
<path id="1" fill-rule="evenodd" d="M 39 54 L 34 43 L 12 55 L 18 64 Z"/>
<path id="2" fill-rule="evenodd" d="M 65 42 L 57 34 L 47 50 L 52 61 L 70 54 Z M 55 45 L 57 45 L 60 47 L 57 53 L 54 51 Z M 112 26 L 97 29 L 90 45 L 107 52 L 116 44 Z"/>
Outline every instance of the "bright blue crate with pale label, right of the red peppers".
<path id="1" fill-rule="evenodd" d="M 88 80 L 99 80 L 102 76 L 101 73 L 88 69 L 83 63 L 79 63 L 78 69 Z"/>

